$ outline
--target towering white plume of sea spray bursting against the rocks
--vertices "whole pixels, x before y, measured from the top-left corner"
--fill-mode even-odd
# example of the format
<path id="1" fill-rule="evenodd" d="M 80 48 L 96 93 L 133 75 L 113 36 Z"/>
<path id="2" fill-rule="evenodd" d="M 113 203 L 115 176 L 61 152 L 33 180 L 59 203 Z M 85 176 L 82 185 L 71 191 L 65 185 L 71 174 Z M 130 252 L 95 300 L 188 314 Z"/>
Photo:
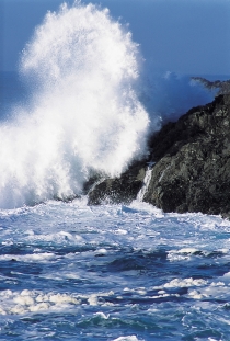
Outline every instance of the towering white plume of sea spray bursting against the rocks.
<path id="1" fill-rule="evenodd" d="M 118 175 L 146 152 L 139 59 L 108 10 L 78 2 L 45 16 L 22 56 L 30 106 L 0 126 L 1 207 L 73 196 L 91 171 Z"/>

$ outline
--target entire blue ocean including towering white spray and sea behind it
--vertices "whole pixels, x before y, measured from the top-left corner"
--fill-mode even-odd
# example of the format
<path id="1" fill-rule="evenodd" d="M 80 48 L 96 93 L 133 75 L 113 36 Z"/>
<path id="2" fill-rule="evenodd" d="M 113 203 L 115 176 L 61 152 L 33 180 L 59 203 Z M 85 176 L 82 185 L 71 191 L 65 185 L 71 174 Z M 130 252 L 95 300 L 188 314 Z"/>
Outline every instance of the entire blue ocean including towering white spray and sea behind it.
<path id="1" fill-rule="evenodd" d="M 0 340 L 229 341 L 229 220 L 82 195 L 215 93 L 145 66 L 80 3 L 47 14 L 20 65 L 0 73 Z"/>

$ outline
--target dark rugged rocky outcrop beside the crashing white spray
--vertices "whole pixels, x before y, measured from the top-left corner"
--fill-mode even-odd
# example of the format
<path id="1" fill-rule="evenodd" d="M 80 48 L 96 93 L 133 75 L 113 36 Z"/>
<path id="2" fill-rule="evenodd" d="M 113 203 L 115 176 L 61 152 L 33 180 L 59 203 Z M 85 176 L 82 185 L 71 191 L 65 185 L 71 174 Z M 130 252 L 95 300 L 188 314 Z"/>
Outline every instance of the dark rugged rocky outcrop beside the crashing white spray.
<path id="1" fill-rule="evenodd" d="M 130 203 L 153 164 L 143 202 L 163 212 L 229 218 L 230 89 L 223 86 L 212 103 L 191 109 L 151 136 L 148 158 L 134 162 L 119 178 L 94 183 L 88 191 L 89 204 Z"/>

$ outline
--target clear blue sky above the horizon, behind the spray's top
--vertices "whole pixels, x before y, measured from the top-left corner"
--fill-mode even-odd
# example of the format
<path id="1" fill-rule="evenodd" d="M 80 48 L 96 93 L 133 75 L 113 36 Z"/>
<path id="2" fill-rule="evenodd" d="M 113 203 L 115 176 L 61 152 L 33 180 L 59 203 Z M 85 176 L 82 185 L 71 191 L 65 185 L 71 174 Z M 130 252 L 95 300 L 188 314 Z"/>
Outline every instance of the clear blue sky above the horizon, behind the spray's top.
<path id="1" fill-rule="evenodd" d="M 67 1 L 72 3 L 73 1 Z M 101 0 L 129 23 L 143 57 L 161 70 L 230 75 L 230 0 Z M 45 13 L 61 0 L 0 0 L 0 70 L 15 70 L 20 53 Z"/>

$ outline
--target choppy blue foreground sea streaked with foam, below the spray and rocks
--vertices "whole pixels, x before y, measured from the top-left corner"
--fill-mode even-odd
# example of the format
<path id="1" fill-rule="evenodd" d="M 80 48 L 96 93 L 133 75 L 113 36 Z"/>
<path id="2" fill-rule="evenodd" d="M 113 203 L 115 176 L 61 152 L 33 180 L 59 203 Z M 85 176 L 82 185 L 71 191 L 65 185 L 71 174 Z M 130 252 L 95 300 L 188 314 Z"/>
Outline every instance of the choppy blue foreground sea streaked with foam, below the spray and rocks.
<path id="1" fill-rule="evenodd" d="M 0 211 L 0 340 L 229 340 L 230 223 L 148 204 Z"/>

